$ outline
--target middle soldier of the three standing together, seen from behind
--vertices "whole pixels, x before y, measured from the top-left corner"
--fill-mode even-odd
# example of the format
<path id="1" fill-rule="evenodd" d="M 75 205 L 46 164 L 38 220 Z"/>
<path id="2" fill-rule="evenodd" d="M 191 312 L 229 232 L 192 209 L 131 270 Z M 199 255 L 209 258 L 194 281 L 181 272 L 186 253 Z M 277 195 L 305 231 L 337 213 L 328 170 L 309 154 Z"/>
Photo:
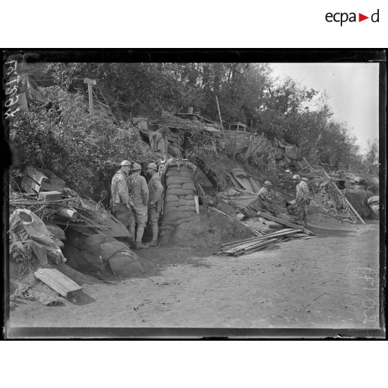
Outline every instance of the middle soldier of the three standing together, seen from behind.
<path id="1" fill-rule="evenodd" d="M 135 249 L 148 248 L 148 246 L 144 245 L 141 241 L 143 239 L 145 225 L 147 224 L 149 193 L 147 181 L 145 181 L 145 177 L 140 175 L 140 172 L 140 164 L 134 163 L 134 165 L 132 165 L 132 175 L 129 177 L 131 199 L 132 202 L 134 202 L 134 211 L 129 218 L 129 232 L 131 232 L 132 236 L 135 236 L 136 231 Z"/>

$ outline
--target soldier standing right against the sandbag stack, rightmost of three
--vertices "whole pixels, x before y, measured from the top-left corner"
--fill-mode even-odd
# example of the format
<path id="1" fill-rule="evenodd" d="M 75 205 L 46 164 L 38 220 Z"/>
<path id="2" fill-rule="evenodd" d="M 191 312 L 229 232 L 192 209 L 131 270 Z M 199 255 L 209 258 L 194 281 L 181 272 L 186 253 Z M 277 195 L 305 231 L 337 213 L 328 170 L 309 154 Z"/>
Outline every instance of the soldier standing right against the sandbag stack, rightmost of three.
<path id="1" fill-rule="evenodd" d="M 148 220 L 152 227 L 152 241 L 146 243 L 149 247 L 156 247 L 159 234 L 159 216 L 162 205 L 163 185 L 158 174 L 158 167 L 155 163 L 147 165 L 147 175 L 151 178 L 148 181 Z"/>

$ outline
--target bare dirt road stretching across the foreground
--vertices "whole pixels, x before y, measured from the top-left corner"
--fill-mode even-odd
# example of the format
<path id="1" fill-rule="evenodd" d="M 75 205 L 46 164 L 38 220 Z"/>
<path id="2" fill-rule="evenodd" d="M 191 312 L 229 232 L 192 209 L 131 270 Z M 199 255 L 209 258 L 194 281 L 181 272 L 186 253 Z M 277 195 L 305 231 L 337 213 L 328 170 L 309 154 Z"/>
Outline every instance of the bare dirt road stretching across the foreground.
<path id="1" fill-rule="evenodd" d="M 378 328 L 378 223 L 314 229 L 241 257 L 149 249 L 147 277 L 83 284 L 84 302 L 22 300 L 13 327 Z M 216 247 L 214 247 L 216 250 Z"/>

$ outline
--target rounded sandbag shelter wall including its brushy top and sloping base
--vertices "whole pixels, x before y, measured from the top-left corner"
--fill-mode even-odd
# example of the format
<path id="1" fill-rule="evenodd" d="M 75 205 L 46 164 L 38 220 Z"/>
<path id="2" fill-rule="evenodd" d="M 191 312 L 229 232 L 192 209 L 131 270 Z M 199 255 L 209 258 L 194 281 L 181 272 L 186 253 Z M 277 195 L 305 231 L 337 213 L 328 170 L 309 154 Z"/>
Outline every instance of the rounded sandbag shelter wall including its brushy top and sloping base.
<path id="1" fill-rule="evenodd" d="M 161 180 L 165 191 L 161 220 L 162 243 L 170 241 L 170 236 L 179 225 L 191 222 L 197 216 L 196 172 L 197 167 L 185 159 L 169 159 L 163 166 Z"/>

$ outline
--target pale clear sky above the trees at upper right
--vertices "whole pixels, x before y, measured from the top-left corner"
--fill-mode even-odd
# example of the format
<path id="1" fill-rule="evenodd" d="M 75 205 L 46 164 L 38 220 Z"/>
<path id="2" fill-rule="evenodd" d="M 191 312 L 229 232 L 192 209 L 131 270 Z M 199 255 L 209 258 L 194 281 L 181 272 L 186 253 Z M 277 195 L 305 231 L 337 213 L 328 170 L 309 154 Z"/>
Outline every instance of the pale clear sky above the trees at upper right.
<path id="1" fill-rule="evenodd" d="M 287 76 L 300 86 L 325 90 L 333 118 L 346 122 L 365 152 L 378 140 L 378 63 L 270 63 L 273 76 Z"/>

